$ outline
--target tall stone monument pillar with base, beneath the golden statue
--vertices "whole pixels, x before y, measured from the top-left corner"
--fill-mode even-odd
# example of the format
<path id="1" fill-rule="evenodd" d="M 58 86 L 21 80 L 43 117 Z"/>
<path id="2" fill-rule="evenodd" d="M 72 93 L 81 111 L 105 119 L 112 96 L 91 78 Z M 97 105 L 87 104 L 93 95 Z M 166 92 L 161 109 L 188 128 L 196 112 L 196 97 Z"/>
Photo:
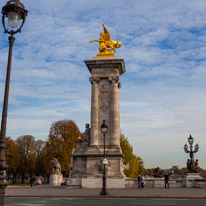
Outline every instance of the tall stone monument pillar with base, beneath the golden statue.
<path id="1" fill-rule="evenodd" d="M 102 187 L 104 138 L 101 124 L 108 125 L 106 134 L 107 187 L 125 188 L 125 176 L 120 148 L 119 88 L 120 75 L 126 72 L 123 59 L 95 59 L 85 61 L 92 83 L 91 129 L 88 148 L 77 148 L 72 153 L 72 173 L 69 186 Z M 83 144 L 82 144 L 83 145 Z"/>

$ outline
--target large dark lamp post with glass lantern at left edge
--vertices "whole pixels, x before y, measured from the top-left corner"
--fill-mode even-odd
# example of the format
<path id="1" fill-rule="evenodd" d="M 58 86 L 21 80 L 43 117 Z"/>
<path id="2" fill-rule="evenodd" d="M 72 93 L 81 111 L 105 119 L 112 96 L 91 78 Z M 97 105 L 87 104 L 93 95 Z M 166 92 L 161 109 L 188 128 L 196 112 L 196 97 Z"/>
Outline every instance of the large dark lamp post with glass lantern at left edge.
<path id="1" fill-rule="evenodd" d="M 9 55 L 7 64 L 7 74 L 5 82 L 4 102 L 1 119 L 1 133 L 0 133 L 0 205 L 4 205 L 4 194 L 7 183 L 5 181 L 5 170 L 7 165 L 5 164 L 5 151 L 6 151 L 6 122 L 7 122 L 7 110 L 8 110 L 8 98 L 9 98 L 9 83 L 11 73 L 11 59 L 12 48 L 15 38 L 14 34 L 21 32 L 21 28 L 24 25 L 28 11 L 25 10 L 24 5 L 20 0 L 11 0 L 6 3 L 2 8 L 2 24 L 4 27 L 4 33 L 10 34 L 9 36 Z M 5 19 L 8 19 L 8 24 Z M 21 20 L 21 24 L 20 24 Z M 20 24 L 20 26 L 19 26 Z M 19 27 L 18 27 L 19 26 Z M 11 29 L 9 29 L 11 27 Z M 14 30 L 13 30 L 14 29 Z"/>

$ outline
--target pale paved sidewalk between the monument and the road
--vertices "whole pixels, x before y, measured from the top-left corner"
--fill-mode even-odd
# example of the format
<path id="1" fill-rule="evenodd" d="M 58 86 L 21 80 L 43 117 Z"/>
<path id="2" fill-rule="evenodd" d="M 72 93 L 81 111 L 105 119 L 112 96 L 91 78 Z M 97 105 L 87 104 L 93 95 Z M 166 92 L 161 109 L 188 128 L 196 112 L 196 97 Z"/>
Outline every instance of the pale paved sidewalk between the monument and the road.
<path id="1" fill-rule="evenodd" d="M 101 189 L 73 189 L 68 187 L 37 186 L 35 189 L 25 187 L 7 187 L 6 197 L 100 197 Z M 202 188 L 144 188 L 108 189 L 106 197 L 135 198 L 206 198 L 206 189 Z M 102 197 L 102 196 L 101 196 Z"/>

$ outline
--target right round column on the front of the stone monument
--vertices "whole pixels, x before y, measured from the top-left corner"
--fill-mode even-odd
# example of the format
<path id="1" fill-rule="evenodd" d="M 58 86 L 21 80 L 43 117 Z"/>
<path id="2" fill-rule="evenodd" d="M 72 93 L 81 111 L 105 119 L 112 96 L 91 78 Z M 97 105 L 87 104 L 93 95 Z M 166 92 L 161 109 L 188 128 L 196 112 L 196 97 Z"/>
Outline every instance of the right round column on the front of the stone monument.
<path id="1" fill-rule="evenodd" d="M 110 147 L 120 147 L 119 77 L 110 77 L 111 81 L 111 138 Z"/>

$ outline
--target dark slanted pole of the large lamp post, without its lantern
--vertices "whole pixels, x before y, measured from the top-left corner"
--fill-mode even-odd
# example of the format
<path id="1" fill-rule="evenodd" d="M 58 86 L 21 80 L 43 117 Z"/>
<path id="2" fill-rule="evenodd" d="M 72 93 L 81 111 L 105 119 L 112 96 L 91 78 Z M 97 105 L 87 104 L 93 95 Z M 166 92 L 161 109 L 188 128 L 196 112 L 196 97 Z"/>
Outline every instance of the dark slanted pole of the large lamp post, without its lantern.
<path id="1" fill-rule="evenodd" d="M 11 35 L 9 38 L 9 55 L 8 55 L 8 64 L 7 64 L 7 74 L 6 74 L 6 83 L 5 83 L 5 92 L 4 92 L 4 102 L 3 102 L 3 111 L 1 119 L 1 133 L 0 133 L 0 205 L 4 205 L 4 194 L 7 183 L 6 178 L 6 123 L 7 123 L 7 111 L 8 111 L 8 100 L 9 100 L 9 84 L 10 84 L 10 73 L 11 73 L 11 60 L 12 60 L 12 48 L 14 45 L 15 38 Z"/>

